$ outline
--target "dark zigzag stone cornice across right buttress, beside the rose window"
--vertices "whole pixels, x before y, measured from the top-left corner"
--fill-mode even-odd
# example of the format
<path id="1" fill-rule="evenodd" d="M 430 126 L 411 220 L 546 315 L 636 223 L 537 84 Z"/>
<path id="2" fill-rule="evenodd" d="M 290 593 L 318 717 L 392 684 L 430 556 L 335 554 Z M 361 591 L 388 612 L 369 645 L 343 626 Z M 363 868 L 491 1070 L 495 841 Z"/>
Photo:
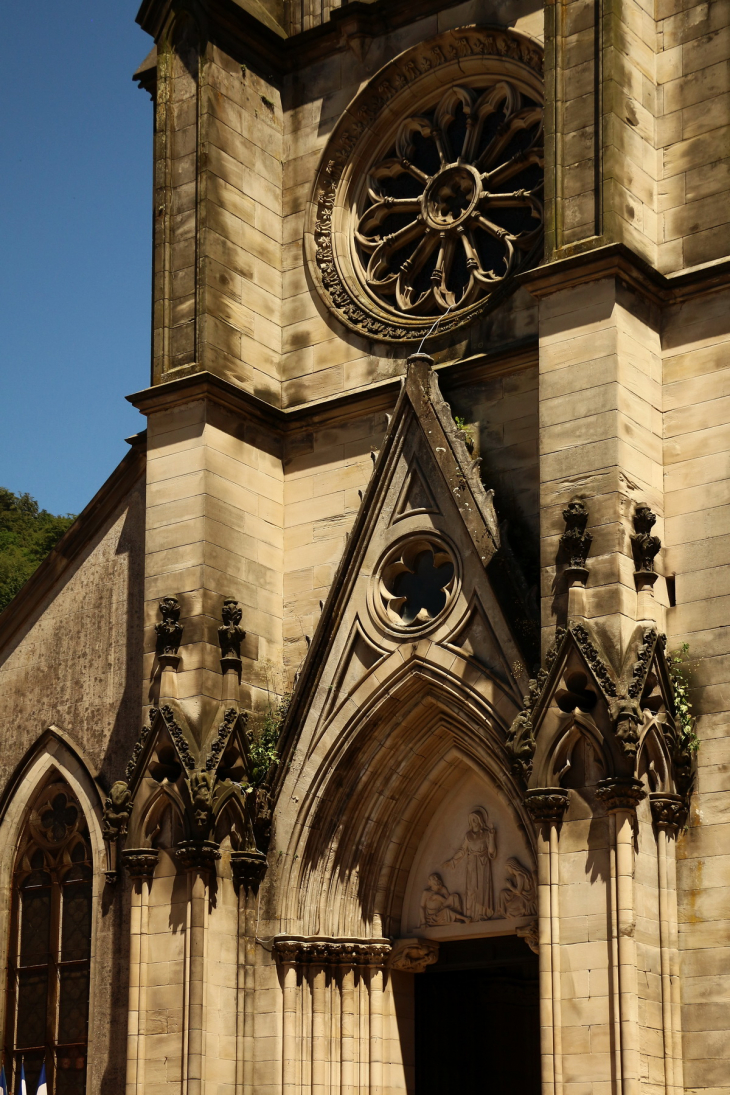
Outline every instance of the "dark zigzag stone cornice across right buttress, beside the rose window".
<path id="1" fill-rule="evenodd" d="M 652 304 L 665 307 L 730 286 L 730 260 L 665 275 L 625 244 L 610 243 L 526 270 L 519 281 L 540 299 L 607 277 L 623 281 Z"/>

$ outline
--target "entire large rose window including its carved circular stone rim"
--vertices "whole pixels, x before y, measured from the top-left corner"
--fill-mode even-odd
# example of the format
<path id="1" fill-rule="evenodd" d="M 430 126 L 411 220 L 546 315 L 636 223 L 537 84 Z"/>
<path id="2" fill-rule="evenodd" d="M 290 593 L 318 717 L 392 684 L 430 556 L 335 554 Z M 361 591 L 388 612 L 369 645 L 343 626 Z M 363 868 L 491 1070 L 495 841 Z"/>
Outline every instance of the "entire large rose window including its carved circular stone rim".
<path id="1" fill-rule="evenodd" d="M 542 66 L 512 31 L 449 31 L 386 65 L 345 112 L 305 245 L 327 307 L 354 331 L 453 330 L 537 258 Z"/>

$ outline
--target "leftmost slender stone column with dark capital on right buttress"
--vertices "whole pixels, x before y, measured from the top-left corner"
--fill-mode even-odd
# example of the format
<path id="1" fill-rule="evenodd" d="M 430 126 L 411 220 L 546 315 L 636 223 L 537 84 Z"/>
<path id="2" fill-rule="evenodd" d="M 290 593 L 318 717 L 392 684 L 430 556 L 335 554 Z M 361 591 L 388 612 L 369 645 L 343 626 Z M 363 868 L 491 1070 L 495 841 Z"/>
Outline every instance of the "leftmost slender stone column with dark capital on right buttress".
<path id="1" fill-rule="evenodd" d="M 559 845 L 568 808 L 564 787 L 533 787 L 525 806 L 537 828 L 537 917 L 540 956 L 540 1041 L 543 1095 L 563 1093 L 560 991 Z"/>

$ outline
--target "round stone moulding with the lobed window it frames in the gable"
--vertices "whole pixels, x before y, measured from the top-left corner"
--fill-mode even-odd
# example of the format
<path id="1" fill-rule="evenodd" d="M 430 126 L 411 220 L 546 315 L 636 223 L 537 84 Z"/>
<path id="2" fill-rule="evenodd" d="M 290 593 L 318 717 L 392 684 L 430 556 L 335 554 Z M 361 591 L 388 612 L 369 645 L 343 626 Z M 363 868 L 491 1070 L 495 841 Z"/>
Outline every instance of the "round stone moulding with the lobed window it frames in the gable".
<path id="1" fill-rule="evenodd" d="M 370 585 L 370 603 L 391 634 L 420 635 L 451 608 L 460 586 L 456 552 L 429 532 L 399 540 L 386 552 Z"/>

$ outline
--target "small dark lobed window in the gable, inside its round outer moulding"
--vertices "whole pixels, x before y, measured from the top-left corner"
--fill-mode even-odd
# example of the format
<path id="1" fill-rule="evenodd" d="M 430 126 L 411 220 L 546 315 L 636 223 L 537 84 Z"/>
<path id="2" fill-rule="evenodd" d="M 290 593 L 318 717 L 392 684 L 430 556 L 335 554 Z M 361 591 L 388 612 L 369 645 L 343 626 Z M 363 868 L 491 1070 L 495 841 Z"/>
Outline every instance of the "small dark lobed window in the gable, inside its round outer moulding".
<path id="1" fill-rule="evenodd" d="M 456 568 L 443 544 L 412 540 L 386 561 L 380 577 L 380 598 L 387 621 L 419 629 L 439 616 L 454 591 Z"/>

